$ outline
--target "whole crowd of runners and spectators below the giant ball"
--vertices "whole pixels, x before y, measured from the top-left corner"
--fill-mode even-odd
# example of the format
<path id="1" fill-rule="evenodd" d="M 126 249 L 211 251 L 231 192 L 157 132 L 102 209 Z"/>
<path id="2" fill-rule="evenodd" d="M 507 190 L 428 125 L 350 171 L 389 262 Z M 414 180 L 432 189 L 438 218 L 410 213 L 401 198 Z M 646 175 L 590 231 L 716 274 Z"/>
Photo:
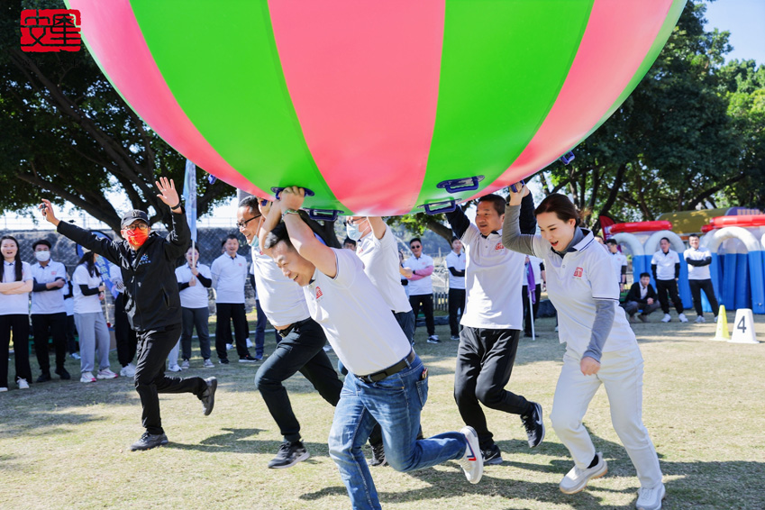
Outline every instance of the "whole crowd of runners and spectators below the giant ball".
<path id="1" fill-rule="evenodd" d="M 207 266 L 190 243 L 174 184 L 160 179 L 157 186 L 172 212 L 173 228 L 165 238 L 151 232 L 142 211 L 125 214 L 124 241 L 111 241 L 60 222 L 50 202 L 43 201 L 45 218 L 83 248 L 71 278 L 63 264 L 50 259 L 50 241 L 32 243 L 37 261 L 31 265 L 22 260 L 22 247 L 14 237 L 0 239 L 0 391 L 8 389 L 12 332 L 14 380 L 25 389 L 32 381 L 30 323 L 41 370 L 38 383 L 51 380 L 50 339 L 53 372 L 61 379 L 71 378 L 64 363 L 68 352 L 75 354 L 76 327 L 82 383 L 118 375 L 134 380 L 145 433 L 132 450 L 166 444 L 159 393 L 192 393 L 205 415 L 213 410 L 216 378 L 165 375 L 167 360 L 169 371 L 191 367 L 195 331 L 201 368 L 214 367 L 208 332 L 212 287 L 218 362 L 228 364 L 228 351 L 234 347 L 241 363 L 263 361 L 255 387 L 284 438 L 268 467 L 289 468 L 310 456 L 283 384 L 299 371 L 335 407 L 330 455 L 353 507 L 379 508 L 368 466 L 409 471 L 454 459 L 460 460 L 469 482 L 478 483 L 485 465 L 501 463 L 502 451 L 484 407 L 517 415 L 530 448 L 543 442 L 542 405 L 508 385 L 521 332 L 534 334 L 533 321 L 546 290 L 557 310 L 560 342 L 567 344 L 550 414 L 574 460 L 560 490 L 579 492 L 590 479 L 606 474 L 606 460 L 582 425 L 589 401 L 603 384 L 615 430 L 640 479 L 637 506 L 660 508 L 664 486 L 656 451 L 642 425 L 642 394 L 634 390 L 642 387 L 642 357 L 630 322 L 635 316 L 647 322 L 659 308 L 662 321 L 669 322 L 670 300 L 678 319 L 688 321 L 678 298 L 680 258 L 669 249 L 669 240 L 660 241 L 651 260 L 657 288 L 651 286 L 651 274 L 642 273 L 621 299 L 626 258 L 615 241 L 602 247 L 592 232 L 578 226 L 578 212 L 565 196 L 548 196 L 534 209 L 528 190 L 518 184 L 508 200 L 496 195 L 479 198 L 475 221 L 459 207 L 448 213 L 454 233 L 444 260 L 449 327 L 451 340 L 459 342 L 454 398 L 465 426 L 424 438 L 420 413 L 427 400 L 428 369 L 414 350 L 415 321 L 421 311 L 426 342 L 441 340 L 433 320 L 434 261 L 423 253 L 420 238 L 409 242 L 412 256 L 404 260 L 382 218 L 349 216 L 344 248 L 350 250 L 329 248 L 300 214 L 304 190 L 288 187 L 273 203 L 250 196 L 237 209 L 237 226 L 250 245 L 251 264 L 239 254 L 240 241 L 232 234 L 223 240 L 221 256 Z M 541 234 L 535 233 L 537 227 Z M 683 257 L 697 322 L 705 320 L 701 290 L 716 319 L 711 256 L 698 249 L 697 236 L 691 236 L 689 244 Z M 101 273 L 105 266 L 98 263 L 99 257 L 111 262 L 107 275 Z M 178 265 L 181 258 L 184 262 Z M 248 278 L 256 288 L 254 344 L 245 316 Z M 110 367 L 110 335 L 102 307 L 107 291 L 114 297 L 119 374 Z M 267 321 L 278 335 L 269 356 L 264 353 Z M 328 345 L 339 359 L 337 370 L 327 356 Z M 366 442 L 372 449 L 369 462 L 361 451 Z"/>

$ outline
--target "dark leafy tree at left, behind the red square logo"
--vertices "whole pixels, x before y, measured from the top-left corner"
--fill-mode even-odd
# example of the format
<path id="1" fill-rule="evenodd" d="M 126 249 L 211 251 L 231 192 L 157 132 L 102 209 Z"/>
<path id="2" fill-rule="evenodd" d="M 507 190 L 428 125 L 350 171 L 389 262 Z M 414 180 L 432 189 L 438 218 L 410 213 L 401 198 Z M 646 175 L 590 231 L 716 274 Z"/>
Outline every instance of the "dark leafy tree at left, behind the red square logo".
<path id="1" fill-rule="evenodd" d="M 23 2 L 23 8 L 65 5 Z M 0 211 L 19 211 L 46 196 L 119 231 L 120 214 L 107 193 L 122 189 L 133 208 L 153 208 L 151 223 L 169 225 L 154 181 L 167 176 L 182 187 L 183 157 L 124 103 L 84 45 L 78 52 L 25 53 L 20 6 L 7 10 L 0 24 Z M 197 214 L 232 195 L 232 187 L 199 175 Z"/>

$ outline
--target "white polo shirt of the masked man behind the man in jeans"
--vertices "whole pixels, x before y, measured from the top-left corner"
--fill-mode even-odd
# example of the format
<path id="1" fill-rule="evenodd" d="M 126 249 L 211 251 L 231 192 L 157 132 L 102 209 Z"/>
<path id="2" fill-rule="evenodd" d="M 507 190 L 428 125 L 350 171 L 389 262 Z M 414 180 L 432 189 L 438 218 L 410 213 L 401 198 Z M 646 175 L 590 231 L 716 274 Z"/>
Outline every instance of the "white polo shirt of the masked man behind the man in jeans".
<path id="1" fill-rule="evenodd" d="M 398 272 L 396 238 L 387 225 L 382 239 L 378 239 L 374 232 L 362 237 L 356 255 L 364 263 L 364 273 L 372 280 L 372 285 L 378 288 L 388 308 L 396 314 L 411 311 L 412 305 L 406 297 L 406 291 L 401 285 L 401 274 Z"/>

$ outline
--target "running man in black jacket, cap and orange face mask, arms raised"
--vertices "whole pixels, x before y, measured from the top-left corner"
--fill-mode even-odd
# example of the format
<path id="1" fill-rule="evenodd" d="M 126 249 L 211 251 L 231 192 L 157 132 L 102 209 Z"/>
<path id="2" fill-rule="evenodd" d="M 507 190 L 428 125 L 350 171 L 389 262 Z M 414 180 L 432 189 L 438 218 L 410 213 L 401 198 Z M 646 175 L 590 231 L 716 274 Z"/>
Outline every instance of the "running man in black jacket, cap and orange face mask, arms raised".
<path id="1" fill-rule="evenodd" d="M 61 222 L 53 214 L 49 200 L 40 205 L 43 217 L 57 232 L 77 244 L 95 251 L 122 269 L 125 312 L 138 334 L 135 390 L 141 396 L 142 423 L 146 433 L 134 442 L 132 451 L 149 450 L 168 443 L 159 417 L 158 393 L 193 393 L 201 401 L 205 415 L 212 413 L 215 378 L 168 378 L 165 359 L 178 342 L 181 332 L 181 306 L 175 267 L 190 242 L 186 216 L 175 184 L 167 178 L 156 183 L 159 199 L 170 206 L 173 221 L 167 238 L 150 232 L 149 216 L 131 211 L 123 216 L 121 234 L 127 241 L 99 239 L 87 230 Z"/>

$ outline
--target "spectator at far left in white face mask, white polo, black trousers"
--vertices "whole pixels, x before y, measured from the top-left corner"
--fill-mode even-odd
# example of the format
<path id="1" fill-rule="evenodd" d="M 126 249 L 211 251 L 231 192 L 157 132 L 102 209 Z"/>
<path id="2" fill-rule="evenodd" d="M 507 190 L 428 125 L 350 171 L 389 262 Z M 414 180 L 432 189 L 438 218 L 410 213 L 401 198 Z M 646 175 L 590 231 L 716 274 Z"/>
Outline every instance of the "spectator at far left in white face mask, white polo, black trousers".
<path id="1" fill-rule="evenodd" d="M 50 381 L 50 357 L 48 338 L 53 337 L 56 350 L 56 374 L 70 379 L 64 362 L 67 360 L 67 309 L 64 306 L 64 290 L 67 286 L 67 269 L 60 262 L 50 260 L 50 242 L 44 239 L 32 244 L 37 263 L 32 266 L 32 335 L 34 351 L 40 363 L 41 375 L 37 382 Z"/>

